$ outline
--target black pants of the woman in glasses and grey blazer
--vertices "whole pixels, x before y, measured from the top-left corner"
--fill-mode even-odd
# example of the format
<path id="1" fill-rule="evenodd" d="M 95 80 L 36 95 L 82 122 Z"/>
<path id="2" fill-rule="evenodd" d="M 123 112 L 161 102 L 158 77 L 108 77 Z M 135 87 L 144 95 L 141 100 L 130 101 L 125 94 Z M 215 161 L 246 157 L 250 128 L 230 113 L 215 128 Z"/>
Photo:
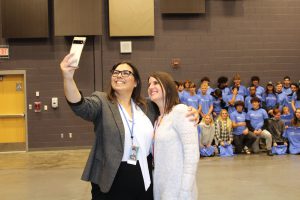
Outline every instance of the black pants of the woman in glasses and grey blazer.
<path id="1" fill-rule="evenodd" d="M 149 162 L 148 159 L 150 167 Z M 151 175 L 152 169 L 149 170 Z M 139 162 L 136 165 L 122 162 L 108 193 L 101 192 L 99 186 L 92 183 L 92 200 L 153 200 L 153 187 L 151 183 L 148 190 L 145 191 Z"/>

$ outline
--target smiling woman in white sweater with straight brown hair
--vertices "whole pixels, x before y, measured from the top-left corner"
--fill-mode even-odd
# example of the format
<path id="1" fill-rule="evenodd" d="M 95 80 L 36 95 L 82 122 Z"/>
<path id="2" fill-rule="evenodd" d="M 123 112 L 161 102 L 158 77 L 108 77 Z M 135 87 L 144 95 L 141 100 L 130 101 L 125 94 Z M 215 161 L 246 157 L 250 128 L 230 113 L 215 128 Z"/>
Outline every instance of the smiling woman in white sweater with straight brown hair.
<path id="1" fill-rule="evenodd" d="M 184 117 L 187 106 L 179 104 L 176 86 L 169 74 L 150 75 L 148 94 L 160 111 L 152 147 L 154 199 L 196 200 L 197 128 Z"/>

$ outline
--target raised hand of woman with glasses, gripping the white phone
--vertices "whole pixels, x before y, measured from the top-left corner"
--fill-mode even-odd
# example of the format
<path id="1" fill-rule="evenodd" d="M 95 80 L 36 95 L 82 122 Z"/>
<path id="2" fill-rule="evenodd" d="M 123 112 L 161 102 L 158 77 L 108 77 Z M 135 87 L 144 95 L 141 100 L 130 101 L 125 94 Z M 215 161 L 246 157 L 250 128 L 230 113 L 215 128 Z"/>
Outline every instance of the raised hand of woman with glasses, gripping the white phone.
<path id="1" fill-rule="evenodd" d="M 63 74 L 63 78 L 67 80 L 73 80 L 74 72 L 78 67 L 71 67 L 71 64 L 74 63 L 76 59 L 74 54 L 68 54 L 60 63 L 60 69 Z"/>

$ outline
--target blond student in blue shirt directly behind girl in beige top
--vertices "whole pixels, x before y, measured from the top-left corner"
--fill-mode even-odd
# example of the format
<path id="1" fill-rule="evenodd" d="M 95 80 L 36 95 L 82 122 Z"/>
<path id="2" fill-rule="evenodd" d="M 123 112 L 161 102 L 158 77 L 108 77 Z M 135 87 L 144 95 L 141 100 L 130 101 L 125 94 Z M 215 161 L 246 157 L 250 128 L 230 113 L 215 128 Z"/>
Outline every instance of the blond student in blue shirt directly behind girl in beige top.
<path id="1" fill-rule="evenodd" d="M 211 115 L 213 111 L 213 101 L 212 96 L 207 93 L 208 85 L 206 83 L 202 83 L 201 85 L 201 93 L 198 94 L 200 99 L 199 103 L 199 113 L 201 117 L 205 117 L 205 115 Z"/>

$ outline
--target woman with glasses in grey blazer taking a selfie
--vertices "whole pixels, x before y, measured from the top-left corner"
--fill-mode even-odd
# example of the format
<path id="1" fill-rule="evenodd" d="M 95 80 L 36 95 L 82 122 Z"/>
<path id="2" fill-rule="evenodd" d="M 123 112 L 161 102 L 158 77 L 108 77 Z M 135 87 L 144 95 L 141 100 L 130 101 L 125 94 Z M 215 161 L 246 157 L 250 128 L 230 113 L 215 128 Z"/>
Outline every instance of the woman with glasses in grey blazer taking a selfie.
<path id="1" fill-rule="evenodd" d="M 153 199 L 150 147 L 159 111 L 141 97 L 137 69 L 128 62 L 114 65 L 109 92 L 83 97 L 73 79 L 74 61 L 69 54 L 60 67 L 71 109 L 94 124 L 95 142 L 82 175 L 92 184 L 92 200 Z"/>

